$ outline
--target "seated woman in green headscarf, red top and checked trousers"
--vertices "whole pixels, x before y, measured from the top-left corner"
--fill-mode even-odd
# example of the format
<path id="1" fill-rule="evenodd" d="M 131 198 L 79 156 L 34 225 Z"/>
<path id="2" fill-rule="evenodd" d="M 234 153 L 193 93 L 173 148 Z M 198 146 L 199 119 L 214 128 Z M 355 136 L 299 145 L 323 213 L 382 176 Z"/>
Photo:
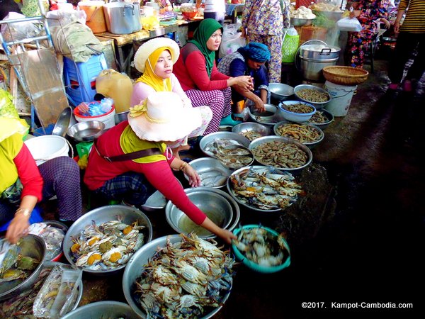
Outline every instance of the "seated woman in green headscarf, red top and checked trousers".
<path id="1" fill-rule="evenodd" d="M 203 133 L 208 135 L 217 132 L 221 125 L 235 125 L 230 114 L 230 86 L 239 86 L 244 90 L 252 90 L 252 79 L 249 76 L 227 77 L 217 71 L 215 51 L 220 47 L 222 26 L 214 19 L 201 21 L 189 41 L 180 52 L 179 60 L 174 65 L 174 74 L 192 101 L 193 107 L 209 106 L 212 120 Z"/>

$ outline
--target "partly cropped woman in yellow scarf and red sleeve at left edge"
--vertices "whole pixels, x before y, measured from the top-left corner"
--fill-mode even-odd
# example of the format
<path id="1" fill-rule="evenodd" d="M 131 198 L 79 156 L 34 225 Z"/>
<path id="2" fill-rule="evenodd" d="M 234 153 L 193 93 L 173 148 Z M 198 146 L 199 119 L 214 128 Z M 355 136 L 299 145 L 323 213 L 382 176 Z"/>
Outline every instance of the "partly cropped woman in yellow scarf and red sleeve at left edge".
<path id="1" fill-rule="evenodd" d="M 12 243 L 26 234 L 31 212 L 42 198 L 57 196 L 61 220 L 81 216 L 79 167 L 70 157 L 35 164 L 23 135 L 23 120 L 0 116 L 0 225 L 7 223 L 6 239 Z"/>

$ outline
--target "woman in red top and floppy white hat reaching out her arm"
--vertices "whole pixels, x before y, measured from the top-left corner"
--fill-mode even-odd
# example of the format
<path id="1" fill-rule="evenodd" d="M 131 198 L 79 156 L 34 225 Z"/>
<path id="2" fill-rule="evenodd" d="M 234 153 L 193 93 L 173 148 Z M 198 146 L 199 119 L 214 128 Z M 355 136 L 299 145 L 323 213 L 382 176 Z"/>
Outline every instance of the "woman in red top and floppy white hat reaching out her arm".
<path id="1" fill-rule="evenodd" d="M 150 94 L 130 108 L 128 121 L 96 140 L 84 183 L 96 194 L 135 206 L 144 204 L 157 189 L 194 223 L 229 243 L 235 236 L 215 225 L 190 201 L 171 170 L 181 170 L 191 186 L 200 185 L 195 169 L 174 157 L 167 145 L 188 135 L 201 121 L 199 109 L 184 107 L 174 92 Z"/>

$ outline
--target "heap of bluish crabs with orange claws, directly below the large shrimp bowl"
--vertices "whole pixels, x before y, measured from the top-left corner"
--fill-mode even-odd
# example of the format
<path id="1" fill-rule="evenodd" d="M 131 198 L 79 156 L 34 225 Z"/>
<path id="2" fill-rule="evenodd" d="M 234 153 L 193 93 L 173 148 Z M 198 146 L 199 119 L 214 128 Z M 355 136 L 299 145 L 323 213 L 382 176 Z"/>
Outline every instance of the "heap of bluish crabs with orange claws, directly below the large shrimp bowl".
<path id="1" fill-rule="evenodd" d="M 249 167 L 230 176 L 232 194 L 247 206 L 263 210 L 286 208 L 298 195 L 303 195 L 300 184 L 292 174 L 272 167 Z"/>

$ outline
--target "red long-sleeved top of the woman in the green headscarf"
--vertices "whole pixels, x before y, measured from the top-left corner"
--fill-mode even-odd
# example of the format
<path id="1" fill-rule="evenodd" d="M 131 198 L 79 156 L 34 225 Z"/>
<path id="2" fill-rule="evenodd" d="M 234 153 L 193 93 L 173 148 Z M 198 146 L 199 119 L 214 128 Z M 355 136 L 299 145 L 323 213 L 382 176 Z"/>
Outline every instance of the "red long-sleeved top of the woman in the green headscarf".
<path id="1" fill-rule="evenodd" d="M 186 65 L 183 63 L 183 55 L 173 68 L 173 73 L 184 91 L 198 89 L 200 91 L 222 90 L 227 88 L 227 75 L 218 72 L 214 62 L 211 77 L 208 77 L 206 61 L 202 52 L 193 51 L 186 57 Z M 188 66 L 188 67 L 186 67 Z"/>

